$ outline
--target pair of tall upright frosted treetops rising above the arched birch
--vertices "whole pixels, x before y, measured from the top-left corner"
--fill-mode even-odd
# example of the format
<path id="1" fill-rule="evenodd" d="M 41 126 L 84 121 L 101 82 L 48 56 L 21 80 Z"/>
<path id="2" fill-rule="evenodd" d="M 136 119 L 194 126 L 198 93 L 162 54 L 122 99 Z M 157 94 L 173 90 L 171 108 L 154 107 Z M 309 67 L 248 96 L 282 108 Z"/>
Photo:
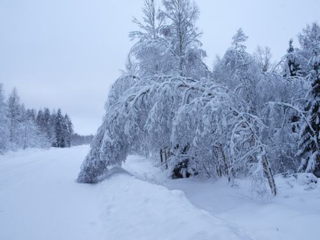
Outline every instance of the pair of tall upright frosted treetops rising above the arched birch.
<path id="1" fill-rule="evenodd" d="M 164 10 L 156 9 L 156 1 L 146 0 L 143 20 L 133 19 L 139 28 L 130 32 L 136 43 L 130 54 L 137 60 L 139 76 L 178 73 L 204 76 L 208 68 L 196 27 L 199 10 L 189 0 L 163 1 Z M 132 65 L 131 65 L 132 66 Z"/>

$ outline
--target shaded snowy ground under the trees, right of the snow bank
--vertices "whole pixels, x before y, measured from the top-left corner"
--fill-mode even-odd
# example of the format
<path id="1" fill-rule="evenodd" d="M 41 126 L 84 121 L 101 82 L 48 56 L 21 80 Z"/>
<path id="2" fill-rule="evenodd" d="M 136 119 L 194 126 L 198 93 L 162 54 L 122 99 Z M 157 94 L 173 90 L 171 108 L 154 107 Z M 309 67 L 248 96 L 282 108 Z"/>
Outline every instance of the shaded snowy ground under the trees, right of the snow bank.
<path id="1" fill-rule="evenodd" d="M 197 208 L 250 232 L 256 239 L 316 239 L 320 221 L 320 184 L 300 185 L 295 178 L 276 177 L 278 194 L 270 200 L 252 199 L 250 182 L 231 188 L 226 180 L 171 180 L 139 156 L 124 168 L 140 179 L 183 191 Z"/>

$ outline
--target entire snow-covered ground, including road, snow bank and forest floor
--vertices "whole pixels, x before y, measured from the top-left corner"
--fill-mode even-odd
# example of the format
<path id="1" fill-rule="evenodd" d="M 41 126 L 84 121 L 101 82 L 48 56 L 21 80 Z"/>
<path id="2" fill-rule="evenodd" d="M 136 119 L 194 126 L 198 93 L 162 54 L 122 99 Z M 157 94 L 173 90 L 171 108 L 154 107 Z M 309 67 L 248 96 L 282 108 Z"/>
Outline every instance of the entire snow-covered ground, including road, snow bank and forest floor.
<path id="1" fill-rule="evenodd" d="M 0 156 L 0 239 L 315 239 L 319 186 L 277 178 L 252 200 L 246 182 L 169 180 L 130 156 L 96 185 L 75 182 L 88 147 Z M 170 189 L 170 190 L 169 190 Z"/>

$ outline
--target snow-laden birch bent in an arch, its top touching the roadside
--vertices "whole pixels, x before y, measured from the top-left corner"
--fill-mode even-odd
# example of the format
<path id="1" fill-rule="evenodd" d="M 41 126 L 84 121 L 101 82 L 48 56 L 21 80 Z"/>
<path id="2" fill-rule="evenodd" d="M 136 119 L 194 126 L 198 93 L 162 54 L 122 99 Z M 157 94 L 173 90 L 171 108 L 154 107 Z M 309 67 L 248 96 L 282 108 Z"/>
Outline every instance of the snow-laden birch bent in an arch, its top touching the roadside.
<path id="1" fill-rule="evenodd" d="M 233 180 L 237 175 L 260 174 L 262 183 L 276 194 L 265 146 L 259 140 L 265 125 L 235 103 L 236 97 L 210 79 L 122 76 L 110 90 L 104 122 L 77 181 L 96 183 L 130 153 L 156 154 L 169 147 L 168 171 L 188 156 L 187 168 L 193 175 L 220 173 Z M 223 161 L 212 154 L 217 146 L 225 156 Z"/>

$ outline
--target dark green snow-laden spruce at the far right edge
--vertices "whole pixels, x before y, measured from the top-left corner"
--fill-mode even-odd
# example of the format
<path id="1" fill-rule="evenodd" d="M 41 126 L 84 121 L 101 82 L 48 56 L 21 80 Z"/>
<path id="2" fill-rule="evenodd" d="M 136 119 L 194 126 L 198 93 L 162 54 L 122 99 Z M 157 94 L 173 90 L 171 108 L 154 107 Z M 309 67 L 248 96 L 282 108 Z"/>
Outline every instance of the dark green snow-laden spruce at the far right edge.
<path id="1" fill-rule="evenodd" d="M 305 157 L 300 169 L 305 172 L 313 172 L 320 177 L 320 54 L 319 49 L 314 50 L 314 56 L 310 60 L 311 71 L 308 80 L 312 89 L 308 93 L 308 114 L 300 133 L 299 155 Z"/>

